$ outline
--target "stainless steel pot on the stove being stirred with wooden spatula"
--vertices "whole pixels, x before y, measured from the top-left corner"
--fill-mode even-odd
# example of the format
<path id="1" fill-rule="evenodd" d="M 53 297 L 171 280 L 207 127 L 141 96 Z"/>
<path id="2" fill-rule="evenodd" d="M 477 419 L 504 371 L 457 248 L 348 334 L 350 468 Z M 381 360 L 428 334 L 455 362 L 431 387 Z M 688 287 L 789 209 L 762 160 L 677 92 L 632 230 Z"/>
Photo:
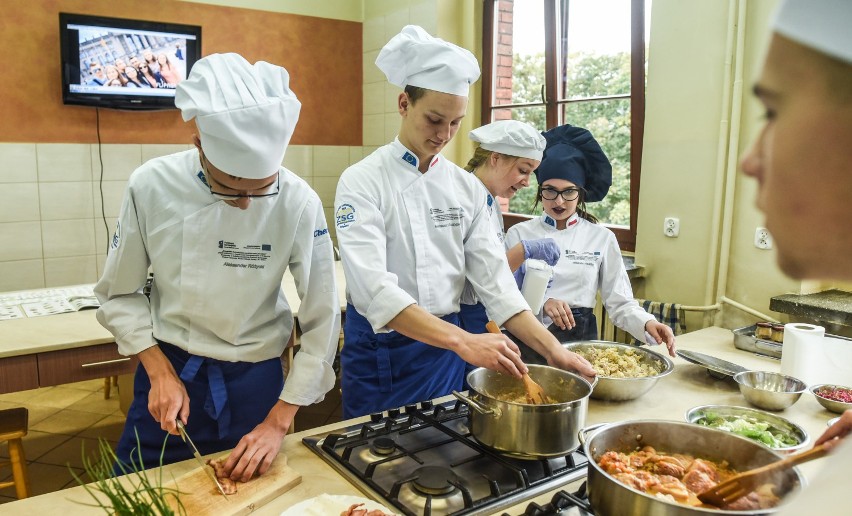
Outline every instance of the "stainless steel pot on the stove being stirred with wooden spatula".
<path id="1" fill-rule="evenodd" d="M 530 377 L 554 403 L 530 405 L 524 384 L 489 369 L 467 375 L 470 395 L 453 392 L 470 406 L 470 432 L 485 446 L 513 457 L 566 455 L 580 447 L 592 386 L 581 376 L 555 367 L 530 365 Z M 518 402 L 503 401 L 517 399 Z"/>

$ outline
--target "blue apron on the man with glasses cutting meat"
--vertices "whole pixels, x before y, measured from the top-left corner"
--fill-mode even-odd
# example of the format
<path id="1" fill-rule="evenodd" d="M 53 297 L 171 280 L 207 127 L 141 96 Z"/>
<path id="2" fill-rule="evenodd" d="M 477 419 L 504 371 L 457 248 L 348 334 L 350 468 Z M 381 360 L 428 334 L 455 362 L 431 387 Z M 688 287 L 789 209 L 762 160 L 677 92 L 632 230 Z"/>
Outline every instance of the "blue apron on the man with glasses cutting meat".
<path id="1" fill-rule="evenodd" d="M 186 431 L 202 455 L 234 448 L 245 434 L 263 422 L 281 395 L 284 373 L 279 358 L 257 363 L 225 362 L 190 355 L 171 344 L 157 342 L 186 387 L 189 395 Z M 132 460 L 139 465 L 141 452 L 140 469 L 158 466 L 160 453 L 163 464 L 192 457 L 181 438 L 164 432 L 148 412 L 150 391 L 151 381 L 139 364 L 133 381 L 133 402 L 116 456 L 125 464 Z M 118 465 L 115 472 L 122 473 Z"/>

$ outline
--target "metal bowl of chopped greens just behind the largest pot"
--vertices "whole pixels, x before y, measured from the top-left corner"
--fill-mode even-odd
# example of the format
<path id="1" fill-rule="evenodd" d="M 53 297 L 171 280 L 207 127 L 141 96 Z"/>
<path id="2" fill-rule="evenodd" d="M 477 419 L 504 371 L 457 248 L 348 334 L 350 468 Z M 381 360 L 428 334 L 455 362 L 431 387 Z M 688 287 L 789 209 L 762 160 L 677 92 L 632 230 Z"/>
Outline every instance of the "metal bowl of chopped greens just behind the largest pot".
<path id="1" fill-rule="evenodd" d="M 782 453 L 805 448 L 810 438 L 804 428 L 781 416 L 734 405 L 702 405 L 686 413 L 697 425 L 725 430 Z"/>

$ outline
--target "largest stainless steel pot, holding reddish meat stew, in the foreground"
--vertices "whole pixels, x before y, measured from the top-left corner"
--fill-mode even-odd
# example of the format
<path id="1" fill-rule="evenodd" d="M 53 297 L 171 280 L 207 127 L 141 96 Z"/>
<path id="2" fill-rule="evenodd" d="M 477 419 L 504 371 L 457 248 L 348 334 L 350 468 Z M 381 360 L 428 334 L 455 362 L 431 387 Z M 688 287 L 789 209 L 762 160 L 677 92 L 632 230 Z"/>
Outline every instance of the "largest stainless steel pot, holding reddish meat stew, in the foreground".
<path id="1" fill-rule="evenodd" d="M 671 515 L 757 515 L 770 514 L 777 510 L 724 511 L 689 507 L 662 498 L 647 495 L 628 487 L 601 469 L 598 461 L 607 451 L 630 452 L 643 446 L 667 453 L 685 453 L 714 461 L 726 460 L 737 471 L 763 466 L 781 460 L 782 456 L 738 435 L 714 428 L 680 423 L 675 421 L 626 421 L 605 425 L 591 437 L 581 434 L 586 456 L 589 458 L 588 494 L 595 514 L 599 516 L 671 516 Z M 783 494 L 796 491 L 804 483 L 798 468 L 788 472 L 782 481 Z"/>

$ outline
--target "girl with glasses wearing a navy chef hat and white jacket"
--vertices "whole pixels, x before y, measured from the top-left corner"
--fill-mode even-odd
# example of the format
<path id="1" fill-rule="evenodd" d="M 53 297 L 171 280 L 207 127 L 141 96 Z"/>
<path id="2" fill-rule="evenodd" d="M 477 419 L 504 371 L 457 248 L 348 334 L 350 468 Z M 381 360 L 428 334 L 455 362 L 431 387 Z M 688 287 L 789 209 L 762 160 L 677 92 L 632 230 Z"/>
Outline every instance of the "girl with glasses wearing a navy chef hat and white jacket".
<path id="1" fill-rule="evenodd" d="M 507 246 L 553 238 L 560 247 L 561 257 L 553 267 L 553 281 L 539 318 L 563 342 L 597 339 L 592 308 L 600 291 L 617 327 L 640 342 L 665 342 L 674 356 L 671 328 L 657 322 L 633 298 L 615 235 L 586 211 L 586 202 L 600 201 L 609 191 L 609 159 L 592 133 L 581 127 L 566 124 L 543 134 L 547 146 L 536 170 L 536 205 L 541 202 L 544 213 L 515 224 L 506 234 Z"/>

